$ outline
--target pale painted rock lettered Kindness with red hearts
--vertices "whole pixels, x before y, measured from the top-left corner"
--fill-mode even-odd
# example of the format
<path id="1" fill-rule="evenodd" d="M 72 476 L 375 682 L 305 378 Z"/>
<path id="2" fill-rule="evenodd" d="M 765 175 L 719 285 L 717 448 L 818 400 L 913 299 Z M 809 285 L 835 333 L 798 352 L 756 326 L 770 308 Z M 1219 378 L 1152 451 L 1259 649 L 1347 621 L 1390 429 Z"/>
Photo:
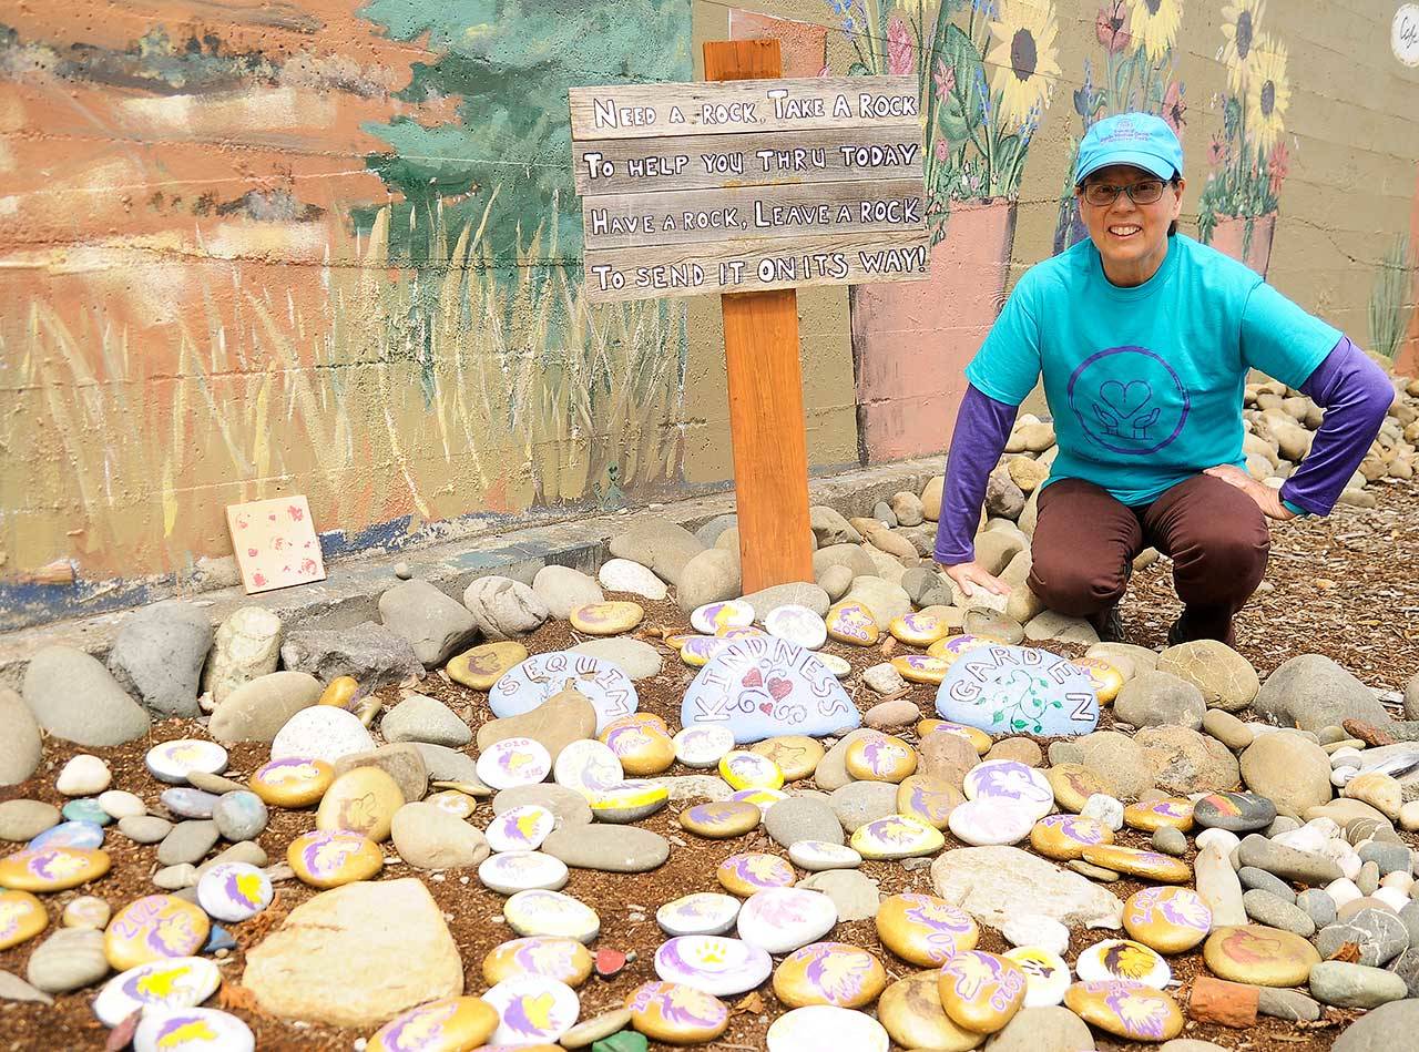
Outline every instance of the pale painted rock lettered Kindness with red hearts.
<path id="1" fill-rule="evenodd" d="M 822 737 L 860 725 L 861 714 L 817 654 L 766 637 L 727 643 L 685 691 L 680 723 L 721 724 L 744 744 Z"/>

